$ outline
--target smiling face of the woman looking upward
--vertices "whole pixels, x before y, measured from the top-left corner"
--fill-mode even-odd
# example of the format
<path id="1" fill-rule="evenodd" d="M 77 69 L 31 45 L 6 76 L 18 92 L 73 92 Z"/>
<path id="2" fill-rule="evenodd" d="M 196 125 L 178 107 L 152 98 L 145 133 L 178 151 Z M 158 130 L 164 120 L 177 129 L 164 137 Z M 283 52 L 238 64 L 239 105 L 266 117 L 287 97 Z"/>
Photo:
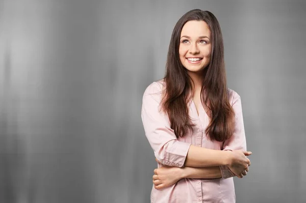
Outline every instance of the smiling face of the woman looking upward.
<path id="1" fill-rule="evenodd" d="M 205 21 L 191 20 L 185 23 L 180 36 L 180 60 L 191 72 L 207 67 L 211 55 L 211 32 Z"/>

